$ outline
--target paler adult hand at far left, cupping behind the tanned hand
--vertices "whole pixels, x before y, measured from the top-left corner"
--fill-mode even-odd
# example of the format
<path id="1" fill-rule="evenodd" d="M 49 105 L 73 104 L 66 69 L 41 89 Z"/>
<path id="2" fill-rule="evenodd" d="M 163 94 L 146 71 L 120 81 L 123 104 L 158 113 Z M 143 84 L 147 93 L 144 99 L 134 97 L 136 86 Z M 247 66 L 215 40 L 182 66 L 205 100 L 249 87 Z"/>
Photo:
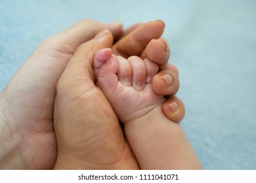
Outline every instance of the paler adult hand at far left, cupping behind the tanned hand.
<path id="1" fill-rule="evenodd" d="M 75 49 L 102 29 L 114 37 L 121 24 L 83 20 L 50 37 L 33 52 L 0 94 L 0 169 L 53 169 L 56 82 Z"/>

